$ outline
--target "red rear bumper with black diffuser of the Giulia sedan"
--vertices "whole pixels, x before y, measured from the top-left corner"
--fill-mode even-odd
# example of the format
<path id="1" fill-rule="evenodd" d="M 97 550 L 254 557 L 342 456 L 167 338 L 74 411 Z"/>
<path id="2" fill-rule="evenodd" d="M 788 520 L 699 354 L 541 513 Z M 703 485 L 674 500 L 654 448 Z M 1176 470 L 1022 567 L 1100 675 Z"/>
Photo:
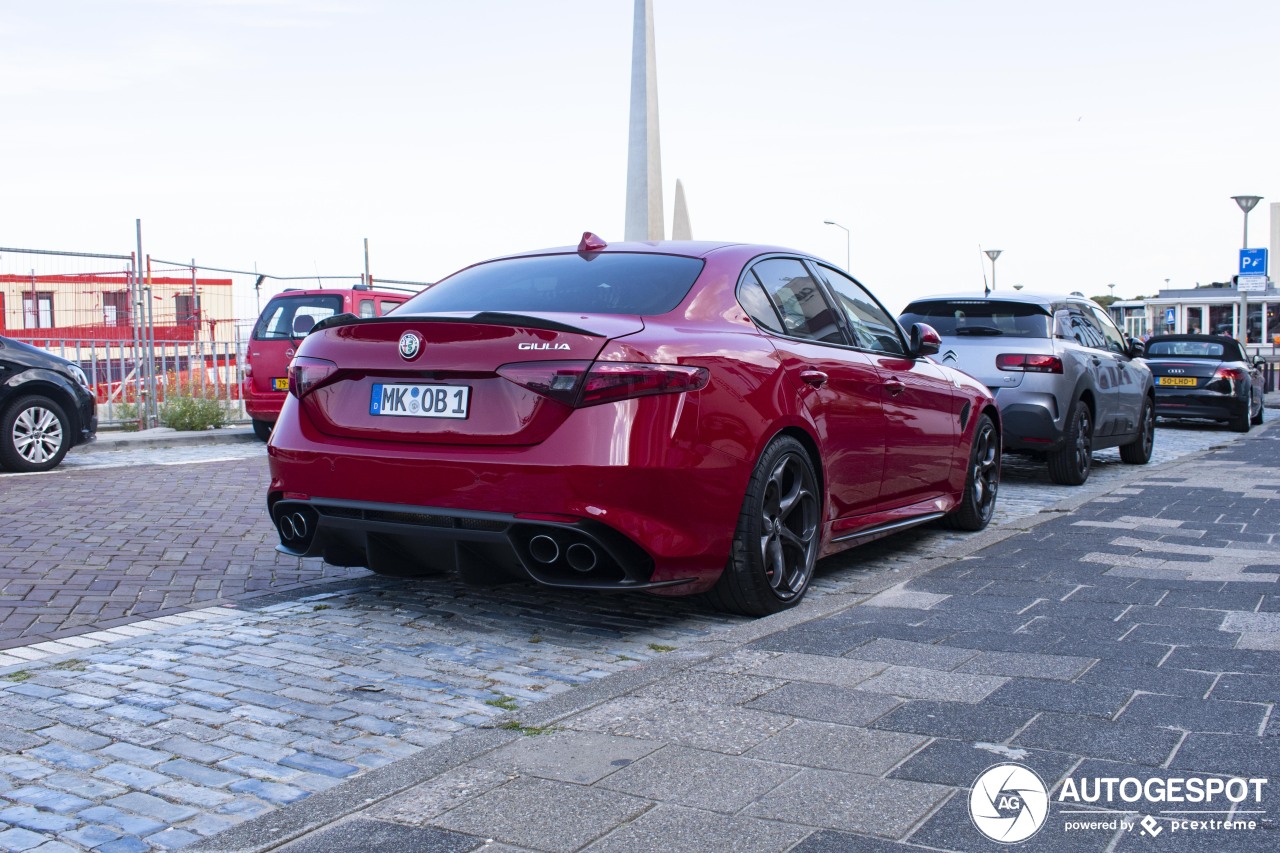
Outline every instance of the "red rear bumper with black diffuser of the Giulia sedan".
<path id="1" fill-rule="evenodd" d="M 728 561 L 750 464 L 628 419 L 631 405 L 577 410 L 540 444 L 468 447 L 321 435 L 291 397 L 268 447 L 268 506 L 278 533 L 289 507 L 316 528 L 282 535 L 288 553 L 328 547 L 388 574 L 396 560 L 463 574 L 488 562 L 556 587 L 704 592 Z M 531 552 L 539 534 L 556 560 Z M 599 567 L 572 567 L 573 544 Z"/>

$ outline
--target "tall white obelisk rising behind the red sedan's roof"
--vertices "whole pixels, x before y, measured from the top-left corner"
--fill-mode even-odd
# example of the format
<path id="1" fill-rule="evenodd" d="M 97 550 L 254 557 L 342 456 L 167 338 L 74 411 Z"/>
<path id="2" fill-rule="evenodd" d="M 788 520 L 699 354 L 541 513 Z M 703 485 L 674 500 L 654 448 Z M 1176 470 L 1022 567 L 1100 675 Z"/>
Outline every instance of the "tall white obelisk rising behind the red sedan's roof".
<path id="1" fill-rule="evenodd" d="M 658 65 L 653 3 L 636 0 L 631 37 L 631 131 L 627 140 L 626 240 L 662 240 L 662 149 L 658 142 Z"/>

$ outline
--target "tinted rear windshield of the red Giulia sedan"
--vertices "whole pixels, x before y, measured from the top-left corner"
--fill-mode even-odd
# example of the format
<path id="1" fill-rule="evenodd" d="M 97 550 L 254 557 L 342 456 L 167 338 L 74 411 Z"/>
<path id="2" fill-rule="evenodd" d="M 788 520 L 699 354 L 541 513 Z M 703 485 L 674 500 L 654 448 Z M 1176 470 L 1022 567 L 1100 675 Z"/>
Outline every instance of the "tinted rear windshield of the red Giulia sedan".
<path id="1" fill-rule="evenodd" d="M 666 314 L 703 272 L 696 257 L 599 254 L 490 261 L 429 287 L 397 314 L 580 311 Z"/>

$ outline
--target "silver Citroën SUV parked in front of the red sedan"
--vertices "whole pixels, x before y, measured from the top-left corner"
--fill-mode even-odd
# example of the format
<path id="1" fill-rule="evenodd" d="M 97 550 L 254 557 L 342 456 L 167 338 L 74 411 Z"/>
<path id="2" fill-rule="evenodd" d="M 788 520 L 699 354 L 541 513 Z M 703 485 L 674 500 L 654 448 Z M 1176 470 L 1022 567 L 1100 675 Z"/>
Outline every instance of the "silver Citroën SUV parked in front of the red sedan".
<path id="1" fill-rule="evenodd" d="M 1119 447 L 1130 465 L 1151 460 L 1156 403 L 1142 343 L 1093 300 L 957 293 L 916 300 L 899 319 L 938 330 L 934 360 L 991 388 L 1005 450 L 1044 453 L 1055 483 L 1084 483 L 1093 451 L 1105 447 Z"/>

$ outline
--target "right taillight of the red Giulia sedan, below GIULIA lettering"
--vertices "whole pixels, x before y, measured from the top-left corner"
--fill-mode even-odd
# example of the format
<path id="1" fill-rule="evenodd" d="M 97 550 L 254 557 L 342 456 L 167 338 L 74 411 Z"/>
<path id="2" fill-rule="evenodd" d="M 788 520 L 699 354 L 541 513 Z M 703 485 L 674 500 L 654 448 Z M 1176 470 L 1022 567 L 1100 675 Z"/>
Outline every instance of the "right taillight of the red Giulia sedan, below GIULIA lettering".
<path id="1" fill-rule="evenodd" d="M 498 368 L 498 375 L 566 406 L 682 393 L 705 388 L 705 368 L 628 361 L 530 361 Z"/>

